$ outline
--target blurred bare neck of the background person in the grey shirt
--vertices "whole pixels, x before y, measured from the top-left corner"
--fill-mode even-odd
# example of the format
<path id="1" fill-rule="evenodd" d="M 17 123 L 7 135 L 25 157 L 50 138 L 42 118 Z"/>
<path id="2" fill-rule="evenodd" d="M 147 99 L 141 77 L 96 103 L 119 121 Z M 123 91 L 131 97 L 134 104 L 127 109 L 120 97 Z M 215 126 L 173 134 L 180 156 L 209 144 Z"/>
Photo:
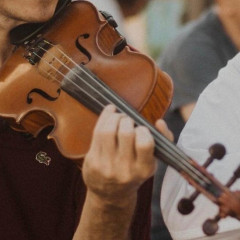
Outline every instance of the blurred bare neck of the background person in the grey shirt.
<path id="1" fill-rule="evenodd" d="M 237 11 L 226 13 L 221 10 L 220 7 L 217 7 L 216 11 L 226 33 L 231 38 L 236 48 L 240 50 L 240 17 L 237 16 L 239 13 L 237 13 Z"/>

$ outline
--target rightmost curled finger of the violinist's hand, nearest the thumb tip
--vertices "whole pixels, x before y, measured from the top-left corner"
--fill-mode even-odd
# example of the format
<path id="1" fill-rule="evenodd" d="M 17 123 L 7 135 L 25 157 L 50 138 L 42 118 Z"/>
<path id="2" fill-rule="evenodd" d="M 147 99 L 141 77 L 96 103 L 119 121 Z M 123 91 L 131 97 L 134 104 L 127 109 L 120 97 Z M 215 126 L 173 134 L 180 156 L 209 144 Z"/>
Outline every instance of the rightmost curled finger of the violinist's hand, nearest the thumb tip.
<path id="1" fill-rule="evenodd" d="M 135 151 L 137 160 L 147 163 L 153 158 L 154 141 L 150 131 L 146 127 L 136 128 Z"/>

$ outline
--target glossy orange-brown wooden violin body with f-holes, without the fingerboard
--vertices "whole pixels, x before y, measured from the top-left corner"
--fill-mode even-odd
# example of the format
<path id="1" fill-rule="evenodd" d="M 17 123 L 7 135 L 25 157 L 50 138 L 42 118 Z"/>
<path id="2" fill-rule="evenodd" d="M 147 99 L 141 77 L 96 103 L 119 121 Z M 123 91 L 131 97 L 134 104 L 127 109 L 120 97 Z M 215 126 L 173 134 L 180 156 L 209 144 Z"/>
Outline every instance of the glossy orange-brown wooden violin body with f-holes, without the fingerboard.
<path id="1" fill-rule="evenodd" d="M 60 152 L 81 158 L 88 150 L 97 115 L 69 96 L 62 85 L 73 81 L 64 75 L 80 74 L 78 66 L 84 65 L 154 122 L 170 104 L 172 83 L 150 58 L 129 46 L 114 53 L 122 41 L 91 3 L 69 4 L 47 31 L 18 47 L 1 70 L 0 115 L 15 119 L 34 136 L 46 126 L 54 126 L 49 138 Z"/>

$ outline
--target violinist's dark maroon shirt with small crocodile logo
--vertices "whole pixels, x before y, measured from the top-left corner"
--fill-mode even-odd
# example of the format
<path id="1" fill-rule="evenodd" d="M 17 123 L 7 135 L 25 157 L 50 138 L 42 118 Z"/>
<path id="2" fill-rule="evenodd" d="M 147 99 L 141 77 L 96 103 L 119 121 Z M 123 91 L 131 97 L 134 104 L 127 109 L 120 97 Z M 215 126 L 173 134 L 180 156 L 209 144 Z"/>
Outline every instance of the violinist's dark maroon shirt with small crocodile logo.
<path id="1" fill-rule="evenodd" d="M 72 239 L 85 199 L 81 172 L 45 134 L 29 139 L 0 128 L 0 239 Z M 139 192 L 134 240 L 149 239 L 151 186 Z"/>

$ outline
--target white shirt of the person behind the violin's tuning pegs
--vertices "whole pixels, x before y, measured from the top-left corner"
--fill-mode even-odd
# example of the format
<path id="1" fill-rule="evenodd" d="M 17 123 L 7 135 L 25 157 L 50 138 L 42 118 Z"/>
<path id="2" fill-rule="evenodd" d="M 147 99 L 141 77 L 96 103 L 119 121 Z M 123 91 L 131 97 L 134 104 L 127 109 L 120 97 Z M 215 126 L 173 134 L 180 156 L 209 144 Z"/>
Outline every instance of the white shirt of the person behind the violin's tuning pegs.
<path id="1" fill-rule="evenodd" d="M 240 54 L 228 62 L 200 95 L 178 146 L 202 165 L 209 157 L 208 148 L 214 143 L 222 143 L 227 153 L 221 161 L 215 160 L 208 171 L 224 184 L 240 165 Z M 240 190 L 239 180 L 232 189 Z M 192 187 L 169 167 L 163 182 L 161 208 L 174 240 L 240 239 L 240 222 L 231 217 L 220 220 L 216 236 L 205 238 L 202 224 L 215 217 L 218 207 L 202 195 L 195 201 L 190 215 L 178 213 L 179 200 L 192 192 Z"/>

